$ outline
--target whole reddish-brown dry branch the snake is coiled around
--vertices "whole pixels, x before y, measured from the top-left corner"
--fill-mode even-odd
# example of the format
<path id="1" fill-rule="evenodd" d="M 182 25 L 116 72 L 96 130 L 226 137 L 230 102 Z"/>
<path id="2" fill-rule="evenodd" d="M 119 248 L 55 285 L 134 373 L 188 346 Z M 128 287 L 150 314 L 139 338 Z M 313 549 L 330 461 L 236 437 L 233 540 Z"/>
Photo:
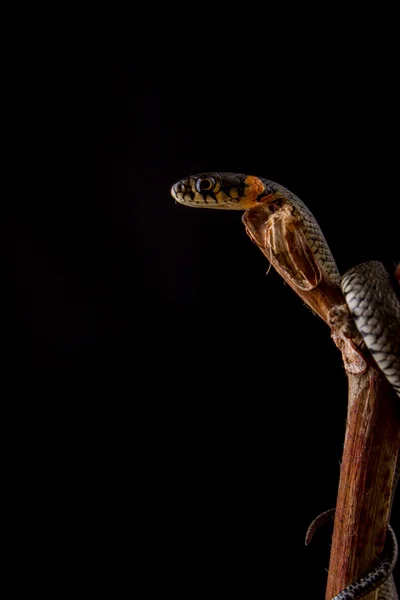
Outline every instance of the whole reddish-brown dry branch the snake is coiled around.
<path id="1" fill-rule="evenodd" d="M 344 304 L 341 289 L 323 270 L 318 277 L 318 265 L 313 265 L 290 216 L 282 212 L 271 217 L 260 205 L 247 211 L 243 222 L 251 240 L 286 283 L 329 324 L 332 307 Z M 342 351 L 349 404 L 326 600 L 377 564 L 386 537 L 400 444 L 396 395 L 370 357 L 357 348 L 361 339 L 350 341 L 335 328 L 332 338 Z M 375 600 L 377 594 L 365 598 Z"/>

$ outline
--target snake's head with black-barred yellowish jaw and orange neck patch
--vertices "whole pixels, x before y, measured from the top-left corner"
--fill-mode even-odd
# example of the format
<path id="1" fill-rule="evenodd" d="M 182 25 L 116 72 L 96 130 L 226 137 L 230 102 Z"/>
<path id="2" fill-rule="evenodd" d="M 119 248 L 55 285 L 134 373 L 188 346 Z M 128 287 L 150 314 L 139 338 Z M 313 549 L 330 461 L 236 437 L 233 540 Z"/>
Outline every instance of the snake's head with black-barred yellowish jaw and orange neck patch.
<path id="1" fill-rule="evenodd" d="M 265 182 L 238 173 L 201 173 L 177 181 L 172 197 L 186 206 L 222 210 L 248 210 L 269 193 Z"/>

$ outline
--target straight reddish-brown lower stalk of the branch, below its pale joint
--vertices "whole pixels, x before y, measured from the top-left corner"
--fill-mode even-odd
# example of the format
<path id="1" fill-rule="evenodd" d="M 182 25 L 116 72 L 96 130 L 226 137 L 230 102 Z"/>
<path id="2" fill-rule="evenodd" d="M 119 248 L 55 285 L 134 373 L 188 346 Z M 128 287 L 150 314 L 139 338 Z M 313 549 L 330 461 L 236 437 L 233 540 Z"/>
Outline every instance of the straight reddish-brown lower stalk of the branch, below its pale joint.
<path id="1" fill-rule="evenodd" d="M 349 405 L 326 600 L 366 575 L 382 554 L 400 443 L 396 395 L 372 366 L 348 374 Z M 375 600 L 378 590 L 365 596 Z"/>

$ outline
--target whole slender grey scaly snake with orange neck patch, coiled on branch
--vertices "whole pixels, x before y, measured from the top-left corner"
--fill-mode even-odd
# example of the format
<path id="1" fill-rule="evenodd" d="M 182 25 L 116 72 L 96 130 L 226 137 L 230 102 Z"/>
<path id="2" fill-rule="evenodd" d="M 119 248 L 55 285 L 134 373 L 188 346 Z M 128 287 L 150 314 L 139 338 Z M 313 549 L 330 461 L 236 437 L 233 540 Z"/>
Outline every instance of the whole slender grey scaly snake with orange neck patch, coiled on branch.
<path id="1" fill-rule="evenodd" d="M 241 173 L 200 173 L 174 183 L 171 195 L 177 203 L 184 206 L 214 210 L 248 211 L 263 203 L 268 218 L 283 207 L 289 210 L 300 224 L 320 269 L 334 284 L 341 287 L 352 325 L 361 335 L 365 348 L 378 369 L 400 398 L 400 301 L 381 262 L 369 261 L 356 265 L 341 276 L 311 211 L 293 192 L 264 177 Z M 398 479 L 399 468 L 395 483 Z M 393 494 L 395 487 L 394 485 Z M 313 521 L 309 528 L 309 539 L 316 528 L 333 513 L 334 509 L 326 511 Z M 389 525 L 385 554 L 380 565 L 347 586 L 332 600 L 357 600 L 377 588 L 379 600 L 398 600 L 392 576 L 397 554 L 396 536 Z"/>

